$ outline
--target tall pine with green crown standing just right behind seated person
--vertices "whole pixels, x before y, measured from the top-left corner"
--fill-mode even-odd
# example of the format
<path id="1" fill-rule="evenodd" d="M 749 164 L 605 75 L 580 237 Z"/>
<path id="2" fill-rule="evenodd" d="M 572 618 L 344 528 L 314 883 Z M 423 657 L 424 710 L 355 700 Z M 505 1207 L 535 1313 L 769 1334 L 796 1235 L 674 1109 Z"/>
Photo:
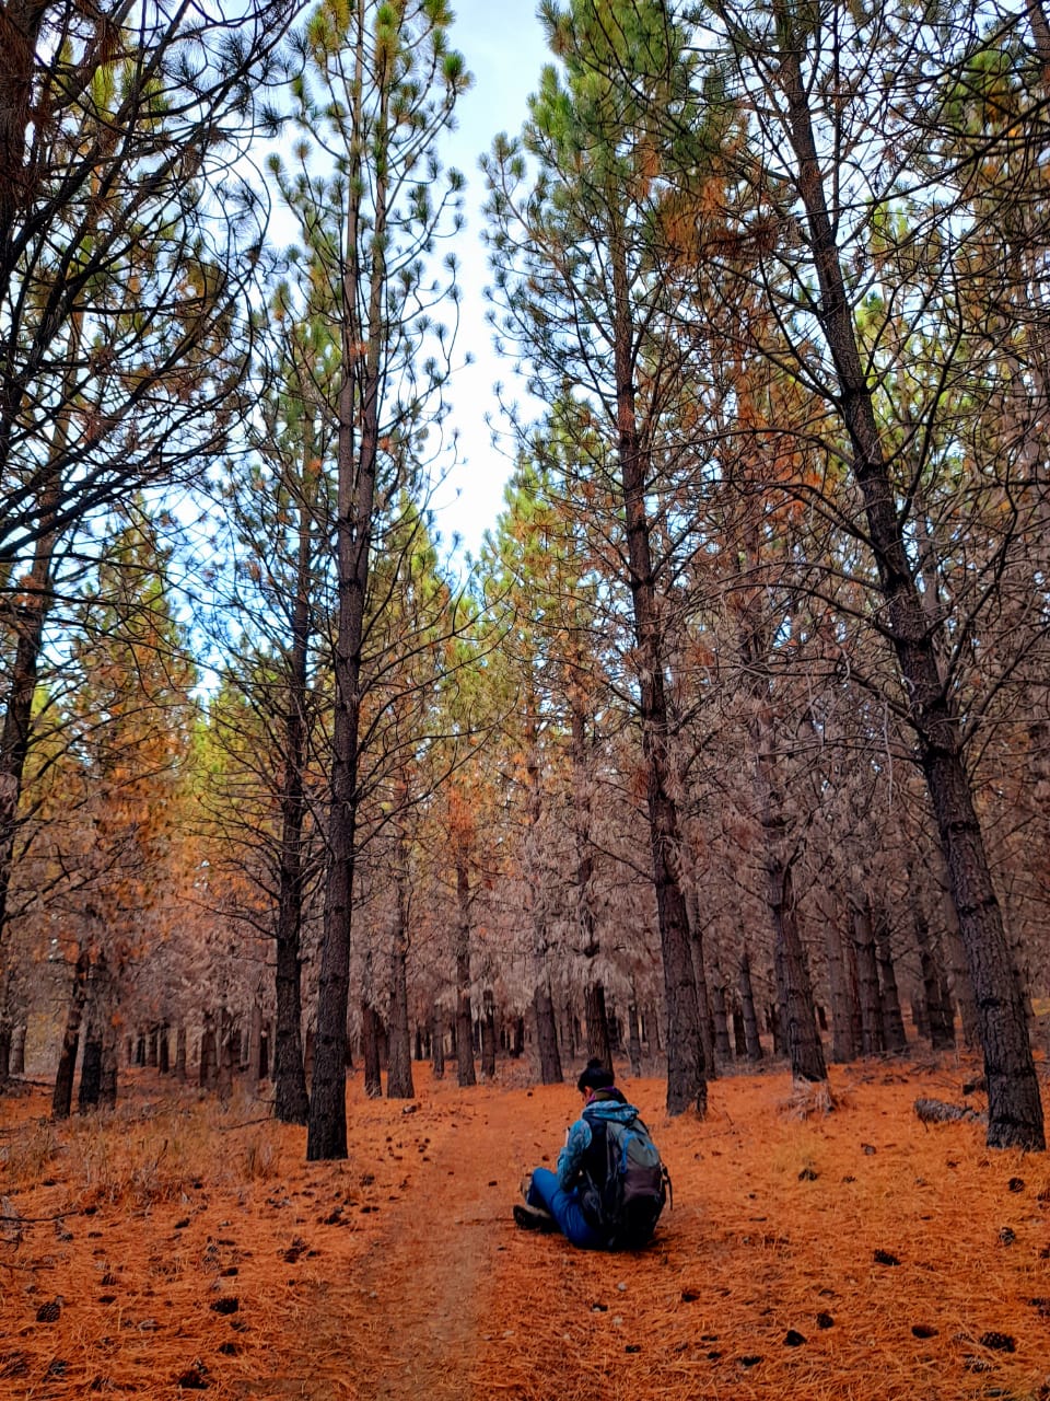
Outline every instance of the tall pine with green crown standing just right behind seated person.
<path id="1" fill-rule="evenodd" d="M 654 258 L 665 102 L 692 102 L 683 35 L 661 6 L 578 0 L 542 7 L 552 66 L 524 142 L 498 139 L 486 170 L 498 322 L 549 402 L 570 395 L 605 451 L 594 475 L 619 496 L 623 581 L 631 597 L 636 686 L 647 768 L 654 887 L 668 1016 L 668 1108 L 703 1111 L 706 1080 L 696 975 L 680 881 L 682 832 L 669 766 L 666 636 L 654 502 L 666 509 L 673 451 L 661 420 L 683 384 L 666 277 Z M 659 55 L 657 62 L 654 55 Z M 650 84 L 636 59 L 650 59 Z M 531 163 L 535 177 L 531 178 Z M 676 464 L 679 468 L 682 462 Z M 655 510 L 659 511 L 659 504 Z"/>

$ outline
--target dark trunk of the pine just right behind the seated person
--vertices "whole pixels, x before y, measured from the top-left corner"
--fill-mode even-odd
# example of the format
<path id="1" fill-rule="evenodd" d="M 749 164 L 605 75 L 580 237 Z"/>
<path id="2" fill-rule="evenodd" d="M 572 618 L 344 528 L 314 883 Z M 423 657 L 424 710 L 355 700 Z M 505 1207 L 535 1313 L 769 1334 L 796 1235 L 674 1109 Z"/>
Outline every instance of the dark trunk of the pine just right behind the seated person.
<path id="1" fill-rule="evenodd" d="M 693 953 L 689 944 L 689 919 L 679 874 L 682 834 L 678 807 L 671 792 L 664 633 L 645 506 L 650 461 L 638 432 L 636 409 L 634 326 L 627 289 L 627 261 L 622 240 L 616 234 L 612 238 L 610 262 L 620 495 L 627 531 L 627 570 L 638 658 L 641 748 L 645 758 L 652 883 L 657 895 L 668 1020 L 666 1108 L 668 1114 L 683 1114 L 694 1107 L 703 1115 L 707 1112 L 704 1047 Z"/>

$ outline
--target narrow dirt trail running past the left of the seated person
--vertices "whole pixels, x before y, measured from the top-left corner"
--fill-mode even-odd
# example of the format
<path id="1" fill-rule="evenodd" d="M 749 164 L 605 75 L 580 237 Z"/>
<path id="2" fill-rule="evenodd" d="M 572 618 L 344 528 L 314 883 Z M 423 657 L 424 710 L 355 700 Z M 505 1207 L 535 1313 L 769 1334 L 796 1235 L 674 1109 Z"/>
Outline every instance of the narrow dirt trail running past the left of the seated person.
<path id="1" fill-rule="evenodd" d="M 368 1112 L 354 1107 L 358 1122 Z M 274 1320 L 304 1330 L 302 1365 L 251 1386 L 244 1394 L 253 1401 L 484 1395 L 479 1345 L 503 1334 L 494 1257 L 515 1229 L 522 1170 L 540 1157 L 540 1135 L 550 1140 L 559 1124 L 545 1125 L 540 1105 L 522 1121 L 519 1094 L 497 1091 L 475 1107 L 470 1091 L 455 1086 L 428 1086 L 412 1107 L 377 1103 L 371 1114 L 385 1115 L 386 1128 L 377 1182 L 386 1185 L 389 1175 L 393 1188 L 382 1226 L 346 1278 L 318 1286 L 301 1320 Z"/>

